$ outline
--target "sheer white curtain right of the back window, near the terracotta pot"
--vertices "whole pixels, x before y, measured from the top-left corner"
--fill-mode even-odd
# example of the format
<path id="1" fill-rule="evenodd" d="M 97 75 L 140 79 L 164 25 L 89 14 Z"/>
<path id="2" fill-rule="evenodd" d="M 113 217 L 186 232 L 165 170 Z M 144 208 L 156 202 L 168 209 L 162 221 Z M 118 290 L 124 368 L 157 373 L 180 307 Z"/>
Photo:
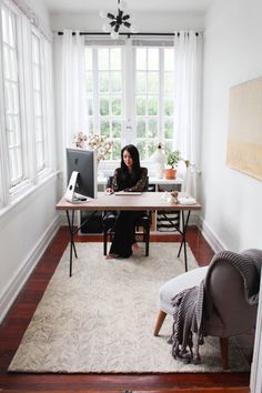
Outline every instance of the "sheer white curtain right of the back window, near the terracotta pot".
<path id="1" fill-rule="evenodd" d="M 184 190 L 196 196 L 200 149 L 202 34 L 179 31 L 174 36 L 177 117 L 175 147 L 191 165 L 184 168 Z"/>

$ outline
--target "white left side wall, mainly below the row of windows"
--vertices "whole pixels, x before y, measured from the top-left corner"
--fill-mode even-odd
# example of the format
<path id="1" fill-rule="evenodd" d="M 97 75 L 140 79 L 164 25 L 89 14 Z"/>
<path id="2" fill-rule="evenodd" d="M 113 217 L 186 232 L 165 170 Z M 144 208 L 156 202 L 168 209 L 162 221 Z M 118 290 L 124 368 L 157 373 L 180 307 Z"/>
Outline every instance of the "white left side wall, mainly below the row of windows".
<path id="1" fill-rule="evenodd" d="M 48 29 L 48 13 L 37 4 L 34 12 Z M 52 135 L 56 147 L 54 132 Z M 59 228 L 56 203 L 60 183 L 58 174 L 52 174 L 27 198 L 0 211 L 0 322 Z"/>

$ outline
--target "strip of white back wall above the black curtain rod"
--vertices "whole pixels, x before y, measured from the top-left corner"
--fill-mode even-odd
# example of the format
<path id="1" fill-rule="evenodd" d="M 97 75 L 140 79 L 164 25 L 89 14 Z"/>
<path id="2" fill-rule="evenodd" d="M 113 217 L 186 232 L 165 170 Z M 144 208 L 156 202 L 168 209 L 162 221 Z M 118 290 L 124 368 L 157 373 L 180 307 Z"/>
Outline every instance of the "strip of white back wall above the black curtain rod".
<path id="1" fill-rule="evenodd" d="M 138 12 L 132 16 L 140 32 L 173 32 L 188 29 L 202 31 L 204 27 L 204 19 L 201 13 Z M 51 16 L 51 28 L 53 31 L 78 29 L 102 32 L 103 23 L 104 20 L 100 18 L 99 12 L 53 13 Z"/>

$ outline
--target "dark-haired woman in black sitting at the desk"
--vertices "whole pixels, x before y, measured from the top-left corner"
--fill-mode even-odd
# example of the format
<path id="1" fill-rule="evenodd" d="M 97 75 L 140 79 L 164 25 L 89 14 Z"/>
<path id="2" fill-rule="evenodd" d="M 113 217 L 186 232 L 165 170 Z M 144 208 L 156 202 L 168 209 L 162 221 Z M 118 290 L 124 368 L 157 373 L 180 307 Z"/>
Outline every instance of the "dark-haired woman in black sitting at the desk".
<path id="1" fill-rule="evenodd" d="M 121 150 L 121 167 L 115 169 L 111 189 L 108 191 L 144 191 L 148 181 L 148 169 L 140 167 L 139 151 L 133 144 Z M 115 225 L 114 236 L 107 259 L 129 258 L 139 250 L 135 242 L 135 221 L 143 212 L 120 211 Z"/>

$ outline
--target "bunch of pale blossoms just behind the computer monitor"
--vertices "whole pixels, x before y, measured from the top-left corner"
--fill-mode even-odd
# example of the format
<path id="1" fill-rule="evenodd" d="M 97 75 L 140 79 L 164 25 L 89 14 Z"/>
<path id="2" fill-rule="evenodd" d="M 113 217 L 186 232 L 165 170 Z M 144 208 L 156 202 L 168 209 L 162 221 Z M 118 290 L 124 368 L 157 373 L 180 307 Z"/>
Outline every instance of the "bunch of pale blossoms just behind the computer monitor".
<path id="1" fill-rule="evenodd" d="M 79 132 L 74 135 L 73 143 L 77 148 L 91 148 L 97 150 L 98 161 L 104 160 L 105 157 L 111 152 L 113 142 L 108 140 L 105 135 L 92 134 L 85 135 L 83 132 Z"/>

